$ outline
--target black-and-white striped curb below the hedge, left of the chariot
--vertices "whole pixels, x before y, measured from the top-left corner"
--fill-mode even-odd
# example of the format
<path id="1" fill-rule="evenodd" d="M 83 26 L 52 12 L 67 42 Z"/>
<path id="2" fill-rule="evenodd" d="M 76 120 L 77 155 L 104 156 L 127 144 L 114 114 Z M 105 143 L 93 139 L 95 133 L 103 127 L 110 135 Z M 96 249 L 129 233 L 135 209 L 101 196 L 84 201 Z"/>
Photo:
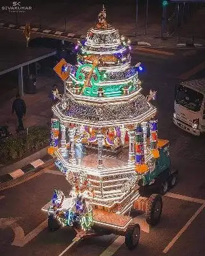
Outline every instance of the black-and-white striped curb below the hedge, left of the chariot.
<path id="1" fill-rule="evenodd" d="M 0 187 L 28 173 L 37 173 L 37 171 L 42 170 L 43 166 L 45 167 L 45 165 L 47 166 L 47 164 L 51 164 L 53 160 L 53 156 L 45 155 L 44 157 L 39 158 L 27 164 L 26 166 L 22 166 L 20 169 L 16 169 L 15 171 L 12 171 L 11 173 L 7 173 L 5 175 L 0 175 Z"/>

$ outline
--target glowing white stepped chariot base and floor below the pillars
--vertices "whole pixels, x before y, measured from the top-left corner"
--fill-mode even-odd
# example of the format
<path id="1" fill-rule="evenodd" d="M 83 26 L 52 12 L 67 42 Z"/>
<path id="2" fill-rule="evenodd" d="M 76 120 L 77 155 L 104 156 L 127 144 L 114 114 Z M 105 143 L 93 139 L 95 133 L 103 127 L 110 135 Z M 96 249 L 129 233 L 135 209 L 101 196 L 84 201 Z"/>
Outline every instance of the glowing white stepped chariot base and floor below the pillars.
<path id="1" fill-rule="evenodd" d="M 66 169 L 65 175 L 69 173 L 80 175 L 85 173 L 95 191 L 92 204 L 97 209 L 111 212 L 121 212 L 132 200 L 138 197 L 138 185 L 136 185 L 141 175 L 135 171 L 135 163 L 128 164 L 115 157 L 103 157 L 103 166 L 98 166 L 97 153 L 88 153 L 82 159 L 77 159 L 76 163 L 69 162 L 69 151 L 65 153 L 58 149 L 56 157 Z M 152 154 L 145 158 L 148 162 Z"/>

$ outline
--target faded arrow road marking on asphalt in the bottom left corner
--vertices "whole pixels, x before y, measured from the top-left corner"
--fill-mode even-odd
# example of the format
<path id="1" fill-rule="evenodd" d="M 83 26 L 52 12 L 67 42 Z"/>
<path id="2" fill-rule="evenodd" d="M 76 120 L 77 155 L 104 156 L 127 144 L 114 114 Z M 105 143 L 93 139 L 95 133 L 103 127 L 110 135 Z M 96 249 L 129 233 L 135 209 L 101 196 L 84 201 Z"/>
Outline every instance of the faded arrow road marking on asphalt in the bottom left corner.
<path id="1" fill-rule="evenodd" d="M 16 224 L 16 223 L 15 223 Z M 13 225 L 13 231 L 15 233 L 15 238 L 12 245 L 23 247 L 25 244 L 29 243 L 34 237 L 36 237 L 40 232 L 42 232 L 47 227 L 47 219 L 43 221 L 40 225 L 32 230 L 29 234 L 24 235 L 24 230 L 19 225 Z"/>

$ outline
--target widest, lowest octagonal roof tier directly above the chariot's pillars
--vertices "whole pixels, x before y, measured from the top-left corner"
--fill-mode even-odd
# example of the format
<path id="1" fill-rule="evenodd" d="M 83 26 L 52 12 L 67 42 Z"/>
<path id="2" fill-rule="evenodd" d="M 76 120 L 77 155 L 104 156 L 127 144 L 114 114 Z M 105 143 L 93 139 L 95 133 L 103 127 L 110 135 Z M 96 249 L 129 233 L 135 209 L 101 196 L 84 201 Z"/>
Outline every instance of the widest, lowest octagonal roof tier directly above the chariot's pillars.
<path id="1" fill-rule="evenodd" d="M 76 99 L 74 94 L 64 96 L 63 103 L 53 107 L 54 114 L 61 121 L 89 126 L 119 126 L 120 124 L 136 124 L 151 119 L 156 109 L 138 93 L 133 99 L 115 103 L 90 103 L 86 99 Z"/>

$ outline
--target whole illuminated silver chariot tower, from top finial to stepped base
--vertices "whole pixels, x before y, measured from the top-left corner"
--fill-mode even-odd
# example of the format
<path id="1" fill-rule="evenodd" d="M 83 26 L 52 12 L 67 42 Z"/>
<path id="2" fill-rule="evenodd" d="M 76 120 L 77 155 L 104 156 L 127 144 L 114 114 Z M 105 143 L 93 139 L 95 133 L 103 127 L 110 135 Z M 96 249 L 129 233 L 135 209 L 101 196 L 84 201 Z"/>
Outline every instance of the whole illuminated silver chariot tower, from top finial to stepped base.
<path id="1" fill-rule="evenodd" d="M 120 213 L 131 207 L 138 180 L 158 157 L 156 108 L 150 103 L 155 92 L 141 93 L 142 67 L 131 65 L 130 50 L 129 40 L 106 22 L 103 8 L 97 25 L 78 41 L 78 65 L 70 67 L 66 92 L 53 106 L 50 148 L 76 191 L 81 177 L 89 183 L 94 209 Z M 119 151 L 126 161 L 115 157 Z"/>

